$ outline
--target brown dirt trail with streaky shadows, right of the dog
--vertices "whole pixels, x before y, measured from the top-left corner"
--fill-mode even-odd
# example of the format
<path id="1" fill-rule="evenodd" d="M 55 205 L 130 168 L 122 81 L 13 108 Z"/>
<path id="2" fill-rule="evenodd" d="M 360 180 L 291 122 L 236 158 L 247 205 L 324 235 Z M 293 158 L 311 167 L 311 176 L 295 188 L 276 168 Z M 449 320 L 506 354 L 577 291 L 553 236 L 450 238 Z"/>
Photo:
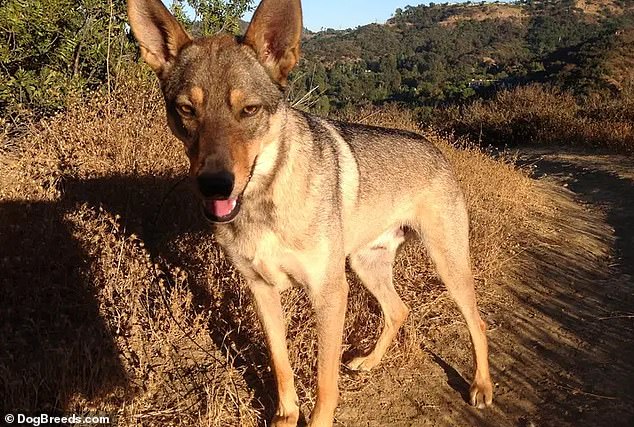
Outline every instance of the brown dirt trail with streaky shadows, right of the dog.
<path id="1" fill-rule="evenodd" d="M 574 217 L 523 254 L 517 277 L 481 295 L 494 407 L 465 403 L 470 355 L 456 323 L 432 329 L 418 360 L 368 374 L 358 393 L 345 387 L 357 374 L 344 374 L 340 425 L 634 425 L 634 159 L 527 148 L 517 162 L 571 192 L 561 210 Z"/>

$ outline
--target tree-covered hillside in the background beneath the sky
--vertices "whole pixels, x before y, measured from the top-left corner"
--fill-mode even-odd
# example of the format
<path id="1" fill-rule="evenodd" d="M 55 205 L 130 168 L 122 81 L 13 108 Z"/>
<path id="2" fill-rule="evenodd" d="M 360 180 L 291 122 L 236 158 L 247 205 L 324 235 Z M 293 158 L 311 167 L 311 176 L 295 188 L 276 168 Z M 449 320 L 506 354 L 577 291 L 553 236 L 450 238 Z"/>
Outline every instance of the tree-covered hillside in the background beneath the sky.
<path id="1" fill-rule="evenodd" d="M 549 82 L 578 95 L 634 79 L 634 1 L 407 6 L 383 25 L 305 37 L 298 92 L 327 112 L 363 102 L 432 106 Z"/>

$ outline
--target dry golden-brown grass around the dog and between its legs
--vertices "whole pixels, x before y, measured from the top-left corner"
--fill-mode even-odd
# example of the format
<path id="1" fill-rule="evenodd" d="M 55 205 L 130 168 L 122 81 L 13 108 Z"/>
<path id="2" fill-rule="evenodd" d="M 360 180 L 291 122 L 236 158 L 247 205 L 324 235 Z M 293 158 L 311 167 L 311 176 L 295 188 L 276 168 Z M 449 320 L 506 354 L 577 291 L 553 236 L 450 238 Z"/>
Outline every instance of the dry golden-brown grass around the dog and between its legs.
<path id="1" fill-rule="evenodd" d="M 274 398 L 262 335 L 241 279 L 182 180 L 185 157 L 164 124 L 162 99 L 143 81 L 131 76 L 113 99 L 49 121 L 1 158 L 2 407 L 102 411 L 117 414 L 119 425 L 257 425 Z M 417 128 L 395 109 L 356 118 Z M 512 165 L 429 137 L 467 194 L 486 315 L 508 302 L 493 295 L 493 284 L 538 245 L 545 221 L 565 221 L 567 213 Z M 425 357 L 425 337 L 459 320 L 422 247 L 404 252 L 397 287 L 412 316 L 388 364 Z M 369 348 L 381 322 L 354 279 L 351 293 L 346 353 Z M 285 306 L 307 409 L 312 317 L 299 291 L 285 296 Z M 344 395 L 366 380 L 344 376 Z"/>

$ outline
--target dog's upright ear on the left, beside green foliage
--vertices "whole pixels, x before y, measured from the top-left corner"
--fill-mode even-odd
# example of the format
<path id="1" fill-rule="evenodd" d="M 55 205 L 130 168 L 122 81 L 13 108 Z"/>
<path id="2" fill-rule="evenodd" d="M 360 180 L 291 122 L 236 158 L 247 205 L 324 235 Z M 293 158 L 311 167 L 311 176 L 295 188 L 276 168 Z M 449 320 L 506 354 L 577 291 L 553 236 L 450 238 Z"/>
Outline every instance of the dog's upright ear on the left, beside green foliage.
<path id="1" fill-rule="evenodd" d="M 162 77 L 191 37 L 161 0 L 128 0 L 128 17 L 143 59 Z"/>

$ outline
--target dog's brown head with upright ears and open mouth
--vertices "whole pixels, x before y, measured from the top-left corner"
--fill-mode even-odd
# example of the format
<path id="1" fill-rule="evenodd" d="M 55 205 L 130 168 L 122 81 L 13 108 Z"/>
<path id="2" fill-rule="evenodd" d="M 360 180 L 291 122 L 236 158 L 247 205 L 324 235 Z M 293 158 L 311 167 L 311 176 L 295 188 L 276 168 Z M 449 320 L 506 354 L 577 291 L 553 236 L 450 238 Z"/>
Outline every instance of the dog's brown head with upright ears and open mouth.
<path id="1" fill-rule="evenodd" d="M 128 0 L 128 16 L 206 216 L 233 220 L 258 155 L 275 139 L 275 113 L 299 59 L 300 0 L 263 0 L 242 38 L 192 39 L 161 0 Z"/>

